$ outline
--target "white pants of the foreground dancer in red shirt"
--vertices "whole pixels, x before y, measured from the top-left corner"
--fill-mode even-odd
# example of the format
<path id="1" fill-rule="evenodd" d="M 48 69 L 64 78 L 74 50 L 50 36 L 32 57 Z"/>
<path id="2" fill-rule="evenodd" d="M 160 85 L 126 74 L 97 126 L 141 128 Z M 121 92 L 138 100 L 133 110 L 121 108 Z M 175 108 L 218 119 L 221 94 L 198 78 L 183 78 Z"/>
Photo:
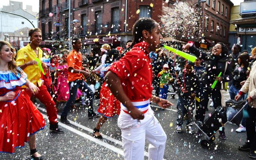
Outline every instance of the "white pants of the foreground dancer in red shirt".
<path id="1" fill-rule="evenodd" d="M 145 139 L 150 143 L 148 160 L 163 159 L 166 134 L 150 107 L 143 120 L 134 120 L 121 110 L 118 127 L 122 131 L 124 160 L 144 160 Z"/>

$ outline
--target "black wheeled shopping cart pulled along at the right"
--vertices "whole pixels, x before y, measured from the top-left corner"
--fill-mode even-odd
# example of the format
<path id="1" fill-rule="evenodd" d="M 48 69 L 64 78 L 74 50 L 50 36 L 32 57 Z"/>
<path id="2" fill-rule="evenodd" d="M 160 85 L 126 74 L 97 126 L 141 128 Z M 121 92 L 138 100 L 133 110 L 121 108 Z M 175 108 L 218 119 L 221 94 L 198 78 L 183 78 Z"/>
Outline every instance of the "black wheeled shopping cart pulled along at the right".
<path id="1" fill-rule="evenodd" d="M 228 113 L 228 117 L 226 114 L 226 108 L 218 107 L 212 114 L 206 118 L 206 120 L 202 123 L 200 121 L 192 122 L 188 124 L 187 126 L 196 125 L 196 127 L 202 132 L 202 134 L 206 137 L 206 140 L 201 140 L 200 144 L 202 148 L 210 148 L 210 144 L 215 140 L 215 134 L 218 133 L 220 128 L 222 126 L 225 126 L 227 123 L 234 123 L 234 119 L 237 118 L 237 116 L 240 116 L 240 120 L 237 120 L 235 124 L 239 126 L 241 120 L 242 120 L 242 110 L 244 107 L 248 104 L 246 100 L 228 100 L 226 102 L 226 107 L 232 107 L 235 108 L 235 114 L 233 112 L 233 115 L 231 117 L 231 114 Z"/>

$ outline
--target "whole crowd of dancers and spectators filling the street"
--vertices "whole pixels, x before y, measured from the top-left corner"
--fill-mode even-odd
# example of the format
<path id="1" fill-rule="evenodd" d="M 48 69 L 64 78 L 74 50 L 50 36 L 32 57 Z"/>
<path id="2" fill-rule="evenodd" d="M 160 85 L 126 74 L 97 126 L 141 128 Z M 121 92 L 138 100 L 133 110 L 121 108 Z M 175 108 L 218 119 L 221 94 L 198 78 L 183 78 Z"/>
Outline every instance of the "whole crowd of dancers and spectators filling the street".
<path id="1" fill-rule="evenodd" d="M 195 117 L 204 122 L 210 99 L 215 109 L 223 106 L 221 90 L 228 90 L 230 99 L 244 99 L 249 103 L 244 108 L 249 116 L 242 119 L 236 131 L 247 133 L 247 142 L 239 149 L 250 150 L 249 156 L 256 158 L 256 48 L 249 55 L 247 51 L 240 53 L 240 46 L 234 44 L 229 54 L 226 45 L 219 42 L 210 52 L 205 52 L 189 41 L 179 49 L 197 57 L 191 62 L 172 52 L 167 55 L 160 47 L 159 24 L 145 18 L 134 24 L 134 39 L 127 41 L 124 50 L 103 44 L 101 58 L 93 52 L 83 56 L 82 41 L 78 37 L 72 38 L 73 49 L 62 50 L 59 56 L 52 54 L 49 48 L 39 48 L 40 29 L 31 29 L 29 36 L 30 44 L 17 53 L 8 42 L 0 41 L 0 125 L 4 126 L 0 128 L 3 135 L 0 152 L 14 153 L 15 147 L 29 142 L 31 157 L 42 160 L 36 150 L 35 133 L 46 124 L 33 99 L 44 104 L 50 130 L 59 134 L 64 133 L 58 126 L 59 103 L 66 102 L 60 122 L 69 124 L 68 113 L 80 99 L 88 110 L 88 118 L 99 118 L 93 130 L 95 138 L 102 139 L 102 125 L 108 118 L 118 116 L 124 159 L 144 159 L 145 140 L 148 140 L 149 159 L 161 160 L 166 134 L 150 103 L 164 109 L 173 105 L 167 100 L 168 95 L 178 97 L 176 132 L 180 133 L 183 121 L 188 125 Z M 214 81 L 217 84 L 211 88 Z M 96 97 L 100 98 L 97 112 L 93 106 Z M 191 126 L 186 130 L 194 134 Z M 219 132 L 220 138 L 225 140 L 224 127 Z M 196 136 L 202 136 L 202 131 L 198 130 Z"/>

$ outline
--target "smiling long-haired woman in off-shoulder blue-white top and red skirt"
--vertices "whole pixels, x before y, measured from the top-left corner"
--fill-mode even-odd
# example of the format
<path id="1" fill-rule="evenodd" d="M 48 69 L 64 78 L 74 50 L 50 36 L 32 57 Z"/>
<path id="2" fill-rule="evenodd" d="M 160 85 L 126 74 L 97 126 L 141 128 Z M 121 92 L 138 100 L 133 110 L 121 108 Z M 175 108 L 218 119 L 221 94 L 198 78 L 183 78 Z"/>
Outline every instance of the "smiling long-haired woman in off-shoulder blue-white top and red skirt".
<path id="1" fill-rule="evenodd" d="M 35 133 L 44 129 L 45 121 L 27 94 L 37 94 L 39 88 L 15 65 L 14 51 L 8 42 L 0 41 L 0 152 L 14 153 L 14 148 L 28 142 L 31 158 L 42 160 Z"/>

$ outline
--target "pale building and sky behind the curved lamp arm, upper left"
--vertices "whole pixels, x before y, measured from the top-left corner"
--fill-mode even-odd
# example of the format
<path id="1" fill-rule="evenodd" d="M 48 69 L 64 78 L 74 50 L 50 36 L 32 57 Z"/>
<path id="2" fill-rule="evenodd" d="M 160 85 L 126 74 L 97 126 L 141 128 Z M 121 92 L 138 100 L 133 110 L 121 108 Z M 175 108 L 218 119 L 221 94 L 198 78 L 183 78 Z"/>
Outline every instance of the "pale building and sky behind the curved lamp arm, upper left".
<path id="1" fill-rule="evenodd" d="M 38 27 L 38 20 L 32 15 L 36 15 L 36 12 L 32 12 L 32 6 L 26 6 L 29 12 L 23 10 L 22 7 L 22 2 L 10 1 L 9 6 L 1 8 L 4 12 L 0 12 L 1 40 L 10 42 L 16 49 L 20 49 L 23 44 L 29 42 L 28 30 L 33 26 Z"/>

